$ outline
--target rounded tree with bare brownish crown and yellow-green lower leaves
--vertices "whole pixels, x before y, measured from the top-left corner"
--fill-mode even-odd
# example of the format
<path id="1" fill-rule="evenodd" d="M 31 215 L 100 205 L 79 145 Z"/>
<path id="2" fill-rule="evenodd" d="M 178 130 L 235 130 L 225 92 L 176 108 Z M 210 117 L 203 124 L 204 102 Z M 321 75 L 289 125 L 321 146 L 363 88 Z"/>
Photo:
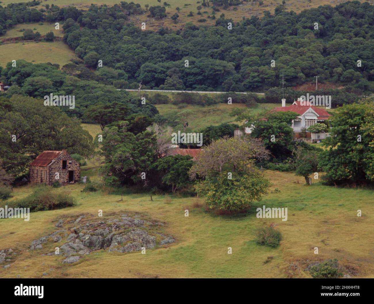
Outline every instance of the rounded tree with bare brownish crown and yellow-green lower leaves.
<path id="1" fill-rule="evenodd" d="M 206 197 L 213 210 L 239 212 L 261 200 L 270 182 L 254 165 L 254 159 L 269 158 L 259 140 L 219 139 L 204 148 L 190 170 L 190 178 L 204 177 L 197 183 L 198 195 Z"/>

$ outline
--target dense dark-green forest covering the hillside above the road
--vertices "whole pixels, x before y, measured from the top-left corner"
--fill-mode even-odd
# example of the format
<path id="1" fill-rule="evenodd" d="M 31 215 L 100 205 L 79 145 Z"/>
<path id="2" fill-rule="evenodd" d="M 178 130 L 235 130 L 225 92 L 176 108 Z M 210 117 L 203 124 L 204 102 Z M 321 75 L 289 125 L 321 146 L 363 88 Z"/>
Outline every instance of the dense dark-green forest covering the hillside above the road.
<path id="1" fill-rule="evenodd" d="M 300 14 L 278 6 L 261 19 L 234 23 L 221 14 L 215 26 L 187 22 L 183 30 L 157 32 L 126 23 L 130 14 L 144 13 L 138 4 L 92 5 L 87 11 L 52 5 L 43 12 L 31 5 L 1 9 L 0 30 L 20 22 L 60 21 L 64 41 L 85 67 L 96 68 L 102 60 L 99 81 L 117 82 L 119 88 L 142 82 L 151 89 L 266 91 L 279 87 L 283 73 L 286 86 L 318 75 L 352 94 L 374 91 L 374 6 L 368 3 L 324 5 Z"/>

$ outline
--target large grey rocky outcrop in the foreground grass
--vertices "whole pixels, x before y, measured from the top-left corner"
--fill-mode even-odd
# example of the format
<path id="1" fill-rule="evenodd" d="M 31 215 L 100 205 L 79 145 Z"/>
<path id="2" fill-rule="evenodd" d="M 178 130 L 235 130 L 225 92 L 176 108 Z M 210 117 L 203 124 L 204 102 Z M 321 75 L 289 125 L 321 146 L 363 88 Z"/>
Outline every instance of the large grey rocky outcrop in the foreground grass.
<path id="1" fill-rule="evenodd" d="M 79 216 L 75 220 L 68 221 L 70 224 L 78 224 L 85 216 Z M 59 220 L 56 227 L 62 226 L 64 221 Z M 65 243 L 59 247 L 59 251 L 47 253 L 47 255 L 62 255 L 66 258 L 63 263 L 77 262 L 82 256 L 92 251 L 108 249 L 108 252 L 132 252 L 137 250 L 152 249 L 156 246 L 156 237 L 148 234 L 150 227 L 159 226 L 162 223 L 148 222 L 137 216 L 129 217 L 121 215 L 120 218 L 112 218 L 99 222 L 86 222 L 70 231 L 63 229 L 50 235 L 41 237 L 31 243 L 30 249 L 42 249 L 47 241 L 61 242 L 65 237 Z M 160 245 L 175 242 L 171 236 L 160 233 L 162 240 Z M 64 236 L 64 237 L 62 237 Z"/>

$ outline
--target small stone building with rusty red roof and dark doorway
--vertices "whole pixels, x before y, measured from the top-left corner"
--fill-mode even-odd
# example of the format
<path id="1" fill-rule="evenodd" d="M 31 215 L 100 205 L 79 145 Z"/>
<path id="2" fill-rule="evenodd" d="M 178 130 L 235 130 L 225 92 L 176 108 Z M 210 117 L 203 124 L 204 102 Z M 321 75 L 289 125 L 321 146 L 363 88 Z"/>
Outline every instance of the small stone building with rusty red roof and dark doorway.
<path id="1" fill-rule="evenodd" d="M 30 164 L 30 182 L 52 185 L 73 184 L 80 179 L 80 165 L 66 150 L 43 151 Z"/>

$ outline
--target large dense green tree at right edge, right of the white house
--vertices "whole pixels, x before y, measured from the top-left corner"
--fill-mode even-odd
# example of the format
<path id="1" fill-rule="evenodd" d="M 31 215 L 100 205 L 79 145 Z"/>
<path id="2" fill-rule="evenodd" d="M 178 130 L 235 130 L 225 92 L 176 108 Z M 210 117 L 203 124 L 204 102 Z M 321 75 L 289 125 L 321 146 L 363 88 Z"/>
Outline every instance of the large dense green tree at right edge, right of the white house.
<path id="1" fill-rule="evenodd" d="M 374 101 L 338 108 L 319 166 L 329 183 L 374 181 Z"/>

